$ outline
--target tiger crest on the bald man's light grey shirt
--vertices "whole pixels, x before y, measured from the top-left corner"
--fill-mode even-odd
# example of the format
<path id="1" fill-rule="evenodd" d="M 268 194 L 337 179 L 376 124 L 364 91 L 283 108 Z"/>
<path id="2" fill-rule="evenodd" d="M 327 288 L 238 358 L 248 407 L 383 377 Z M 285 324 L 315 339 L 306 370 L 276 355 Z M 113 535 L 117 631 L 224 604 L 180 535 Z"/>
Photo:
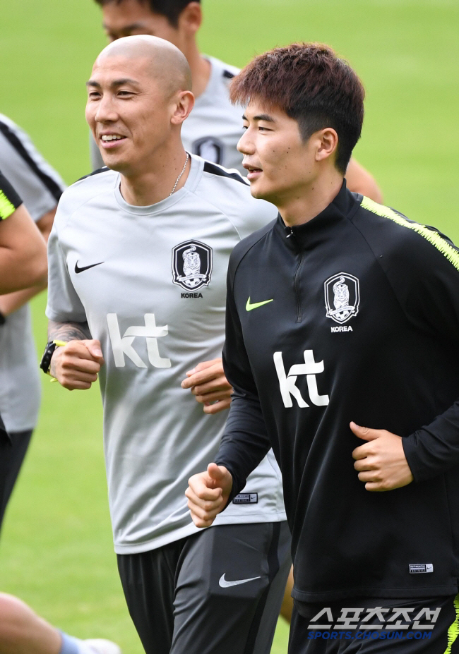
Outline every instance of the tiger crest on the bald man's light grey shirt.
<path id="1" fill-rule="evenodd" d="M 212 248 L 200 241 L 185 241 L 172 248 L 172 281 L 185 291 L 208 286 L 212 274 Z"/>

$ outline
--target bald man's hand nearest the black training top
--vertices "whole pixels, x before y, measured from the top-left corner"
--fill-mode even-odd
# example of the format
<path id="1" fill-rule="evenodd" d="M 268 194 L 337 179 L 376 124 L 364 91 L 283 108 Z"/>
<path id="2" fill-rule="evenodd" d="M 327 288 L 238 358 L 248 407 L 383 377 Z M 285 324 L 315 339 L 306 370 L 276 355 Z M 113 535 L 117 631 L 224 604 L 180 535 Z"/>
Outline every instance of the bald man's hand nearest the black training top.
<path id="1" fill-rule="evenodd" d="M 186 373 L 182 388 L 189 388 L 196 401 L 204 405 L 204 413 L 218 413 L 229 408 L 232 387 L 223 372 L 221 359 L 203 361 Z"/>

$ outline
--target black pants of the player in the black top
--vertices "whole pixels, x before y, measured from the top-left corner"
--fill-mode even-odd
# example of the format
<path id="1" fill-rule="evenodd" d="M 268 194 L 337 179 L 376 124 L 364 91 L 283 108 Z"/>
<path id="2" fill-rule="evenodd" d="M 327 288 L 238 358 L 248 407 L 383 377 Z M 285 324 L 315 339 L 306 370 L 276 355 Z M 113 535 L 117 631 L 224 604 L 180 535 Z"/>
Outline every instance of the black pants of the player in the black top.
<path id="1" fill-rule="evenodd" d="M 459 654 L 459 595 L 294 602 L 289 654 Z"/>

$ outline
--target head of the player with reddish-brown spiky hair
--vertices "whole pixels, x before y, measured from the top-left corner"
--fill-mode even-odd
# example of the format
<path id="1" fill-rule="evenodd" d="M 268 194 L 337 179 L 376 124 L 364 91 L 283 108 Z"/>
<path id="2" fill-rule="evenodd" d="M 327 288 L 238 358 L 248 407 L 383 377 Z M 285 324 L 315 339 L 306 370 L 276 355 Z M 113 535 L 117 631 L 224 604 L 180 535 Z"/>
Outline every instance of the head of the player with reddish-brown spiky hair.
<path id="1" fill-rule="evenodd" d="M 238 150 L 253 195 L 274 202 L 332 167 L 344 176 L 362 131 L 364 88 L 328 46 L 261 54 L 232 80 L 230 93 L 246 106 Z"/>

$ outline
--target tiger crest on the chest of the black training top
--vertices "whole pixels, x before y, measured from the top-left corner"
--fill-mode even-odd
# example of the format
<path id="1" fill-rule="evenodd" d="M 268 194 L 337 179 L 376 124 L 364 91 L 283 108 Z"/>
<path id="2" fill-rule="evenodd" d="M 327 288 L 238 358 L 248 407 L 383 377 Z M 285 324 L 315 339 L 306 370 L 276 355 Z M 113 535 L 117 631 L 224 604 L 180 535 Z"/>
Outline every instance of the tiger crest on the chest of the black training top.
<path id="1" fill-rule="evenodd" d="M 328 277 L 325 284 L 326 316 L 342 325 L 359 311 L 359 280 L 347 272 Z"/>

